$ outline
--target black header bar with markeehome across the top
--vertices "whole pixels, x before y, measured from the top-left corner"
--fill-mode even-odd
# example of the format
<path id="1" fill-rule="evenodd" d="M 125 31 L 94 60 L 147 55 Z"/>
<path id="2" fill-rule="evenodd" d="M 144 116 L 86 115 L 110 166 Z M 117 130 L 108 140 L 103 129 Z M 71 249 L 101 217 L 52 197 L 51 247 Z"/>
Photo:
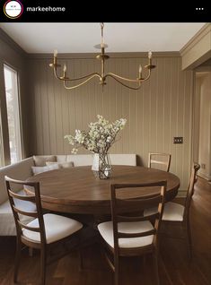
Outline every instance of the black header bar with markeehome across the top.
<path id="1" fill-rule="evenodd" d="M 18 0 L 23 13 L 10 19 L 4 14 L 6 0 L 0 2 L 1 22 L 211 22 L 210 4 L 156 3 L 145 1 L 121 3 L 94 1 Z M 65 7 L 65 12 L 27 12 L 29 7 Z M 200 8 L 200 9 L 199 9 Z M 203 10 L 202 10 L 203 8 Z"/>

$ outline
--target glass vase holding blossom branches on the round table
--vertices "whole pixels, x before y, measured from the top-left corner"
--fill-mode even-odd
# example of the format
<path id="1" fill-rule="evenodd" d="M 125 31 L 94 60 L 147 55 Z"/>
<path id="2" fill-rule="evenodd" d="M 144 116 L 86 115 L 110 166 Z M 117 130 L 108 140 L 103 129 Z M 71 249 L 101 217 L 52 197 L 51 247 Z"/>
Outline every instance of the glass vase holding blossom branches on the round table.
<path id="1" fill-rule="evenodd" d="M 99 179 L 107 179 L 111 174 L 110 157 L 108 153 L 94 153 L 92 171 Z"/>

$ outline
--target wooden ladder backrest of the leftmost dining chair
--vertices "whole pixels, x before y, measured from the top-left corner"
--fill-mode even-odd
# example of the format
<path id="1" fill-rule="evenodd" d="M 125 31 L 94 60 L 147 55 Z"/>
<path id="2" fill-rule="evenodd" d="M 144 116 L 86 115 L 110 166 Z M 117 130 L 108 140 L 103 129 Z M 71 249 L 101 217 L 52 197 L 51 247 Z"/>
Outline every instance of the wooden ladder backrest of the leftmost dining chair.
<path id="1" fill-rule="evenodd" d="M 44 245 L 46 244 L 46 233 L 45 233 L 45 226 L 44 226 L 44 220 L 43 220 L 43 214 L 42 214 L 42 208 L 41 208 L 41 201 L 40 201 L 40 183 L 39 182 L 26 182 L 21 180 L 15 180 L 10 177 L 4 177 L 7 194 L 9 197 L 9 202 L 11 204 L 11 208 L 13 210 L 13 217 L 16 225 L 17 230 L 17 238 L 22 239 L 22 242 L 27 245 L 31 246 L 31 240 L 24 237 L 22 235 L 22 229 L 28 229 L 31 231 L 39 232 L 40 233 L 40 244 Z M 26 189 L 27 187 L 32 187 L 34 189 L 34 194 L 31 195 L 22 195 L 22 194 L 16 194 L 13 192 L 13 186 L 14 185 L 22 185 L 23 189 Z M 15 204 L 15 200 L 22 200 L 25 202 L 31 202 L 36 204 L 36 211 L 35 212 L 29 212 L 26 209 L 19 208 Z M 34 228 L 25 225 L 22 220 L 20 219 L 20 214 L 28 217 L 32 217 L 34 219 L 39 220 L 39 227 Z M 38 247 L 40 247 L 40 244 Z"/>

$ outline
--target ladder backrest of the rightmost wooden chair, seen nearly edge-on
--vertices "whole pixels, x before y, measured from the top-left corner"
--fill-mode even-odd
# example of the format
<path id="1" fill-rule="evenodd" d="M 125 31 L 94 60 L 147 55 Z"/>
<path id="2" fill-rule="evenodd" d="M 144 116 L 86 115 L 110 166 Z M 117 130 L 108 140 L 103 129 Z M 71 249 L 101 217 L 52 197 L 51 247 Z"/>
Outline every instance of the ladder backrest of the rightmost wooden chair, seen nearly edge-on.
<path id="1" fill-rule="evenodd" d="M 187 193 L 186 201 L 185 201 L 184 220 L 187 220 L 189 216 L 189 206 L 190 206 L 192 195 L 194 194 L 194 186 L 195 186 L 195 183 L 197 182 L 197 172 L 199 168 L 200 168 L 200 165 L 194 162 L 191 168 L 191 173 L 190 173 L 190 178 L 189 178 L 189 188 L 188 188 L 188 193 Z"/>

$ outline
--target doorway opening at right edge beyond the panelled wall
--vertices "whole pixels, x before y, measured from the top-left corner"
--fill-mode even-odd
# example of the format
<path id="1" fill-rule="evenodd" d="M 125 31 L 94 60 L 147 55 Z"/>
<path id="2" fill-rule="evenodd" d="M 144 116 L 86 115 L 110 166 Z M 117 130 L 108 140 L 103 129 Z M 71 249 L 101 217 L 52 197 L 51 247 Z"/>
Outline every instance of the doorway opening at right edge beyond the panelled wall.
<path id="1" fill-rule="evenodd" d="M 193 100 L 193 160 L 198 176 L 211 180 L 211 66 L 195 71 Z"/>

